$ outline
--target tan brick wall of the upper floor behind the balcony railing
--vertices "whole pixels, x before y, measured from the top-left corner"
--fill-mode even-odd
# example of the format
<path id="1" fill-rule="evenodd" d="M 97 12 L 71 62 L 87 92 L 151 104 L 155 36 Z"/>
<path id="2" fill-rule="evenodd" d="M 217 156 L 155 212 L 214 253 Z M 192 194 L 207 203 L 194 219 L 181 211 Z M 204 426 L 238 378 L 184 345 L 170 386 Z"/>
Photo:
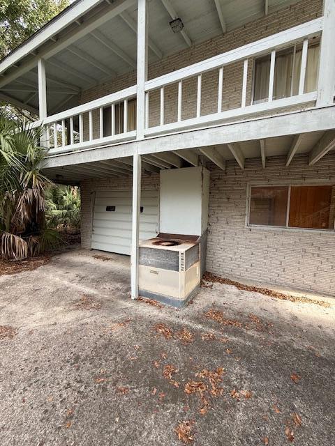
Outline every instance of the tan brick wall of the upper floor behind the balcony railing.
<path id="1" fill-rule="evenodd" d="M 322 0 L 303 0 L 288 8 L 254 20 L 244 26 L 229 31 L 224 35 L 211 38 L 204 43 L 165 57 L 161 61 L 149 66 L 149 79 L 164 75 L 168 72 L 184 68 L 209 57 L 216 56 L 230 49 L 241 47 L 246 43 L 271 36 L 297 24 L 308 22 L 322 15 Z M 251 102 L 253 60 L 248 61 L 247 104 Z M 225 67 L 223 80 L 223 110 L 234 109 L 241 105 L 241 85 L 243 62 Z M 80 102 L 88 102 L 101 96 L 114 93 L 136 83 L 135 71 L 111 79 L 89 91 L 84 91 Z M 192 77 L 183 82 L 183 112 L 182 118 L 195 117 L 197 79 Z M 202 115 L 217 111 L 218 98 L 218 70 L 207 72 L 202 77 Z M 159 124 L 160 100 L 159 91 L 150 93 L 149 126 Z M 165 123 L 177 121 L 177 84 L 165 88 Z M 88 139 L 88 116 L 84 116 L 85 137 Z M 98 137 L 99 114 L 94 112 L 94 137 Z"/>

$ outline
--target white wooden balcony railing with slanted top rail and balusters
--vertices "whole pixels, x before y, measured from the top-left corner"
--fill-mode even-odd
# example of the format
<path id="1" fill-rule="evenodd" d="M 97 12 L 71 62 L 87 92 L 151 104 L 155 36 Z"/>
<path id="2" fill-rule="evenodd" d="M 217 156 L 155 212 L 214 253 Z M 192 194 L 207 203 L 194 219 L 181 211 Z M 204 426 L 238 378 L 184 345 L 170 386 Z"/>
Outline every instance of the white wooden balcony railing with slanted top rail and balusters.
<path id="1" fill-rule="evenodd" d="M 304 90 L 305 75 L 308 55 L 308 42 L 312 38 L 319 37 L 322 32 L 323 17 L 306 22 L 295 28 L 276 33 L 254 43 L 244 45 L 229 52 L 219 54 L 211 59 L 195 63 L 186 68 L 170 72 L 167 75 L 150 79 L 144 84 L 145 91 L 145 125 L 144 137 L 154 134 L 178 132 L 187 128 L 203 127 L 221 121 L 231 119 L 244 119 L 246 116 L 267 114 L 278 109 L 310 104 L 315 105 L 318 86 L 316 91 L 308 93 Z M 301 63 L 299 69 L 299 88 L 295 95 L 291 94 L 285 98 L 274 97 L 274 79 L 276 70 L 276 54 L 289 47 L 301 47 Z M 260 56 L 271 54 L 269 69 L 269 89 L 267 100 L 261 103 L 253 103 L 250 100 L 250 91 L 253 89 L 253 70 L 251 61 Z M 239 86 L 239 103 L 234 107 L 223 109 L 225 100 L 225 89 L 223 78 L 226 68 L 232 64 L 239 63 L 241 66 L 241 84 Z M 203 79 L 207 73 L 216 70 L 218 77 L 212 85 L 212 92 L 217 91 L 216 97 L 211 95 L 211 109 L 214 112 L 202 113 L 204 101 Z M 184 116 L 184 108 L 189 108 L 189 98 L 183 95 L 184 83 L 195 82 L 193 89 L 194 113 L 192 116 Z M 234 82 L 236 79 L 234 79 Z M 236 85 L 236 82 L 235 84 Z M 239 85 L 239 84 L 237 84 Z M 165 116 L 167 106 L 166 90 L 174 88 L 175 98 L 168 95 L 169 116 Z M 207 92 L 208 92 L 207 88 Z M 248 93 L 247 93 L 248 92 Z M 47 141 L 50 144 L 50 154 L 74 151 L 105 144 L 114 144 L 119 141 L 127 141 L 137 137 L 136 130 L 129 130 L 128 125 L 128 101 L 136 98 L 137 86 L 112 93 L 110 95 L 87 102 L 73 109 L 66 110 L 54 116 L 48 116 L 43 121 L 46 127 Z M 155 98 L 154 104 L 151 101 Z M 115 107 L 123 103 L 123 123 L 121 132 L 115 130 Z M 104 132 L 104 109 L 111 107 L 108 115 L 111 120 L 110 134 L 105 136 Z M 172 110 L 172 113 L 171 113 Z M 167 122 L 168 121 L 168 122 Z M 152 124 L 154 123 L 154 124 Z M 39 121 L 36 125 L 40 125 Z M 133 126 L 133 128 L 135 128 Z M 50 133 L 52 137 L 50 138 Z M 49 136 L 48 136 L 49 135 Z"/>

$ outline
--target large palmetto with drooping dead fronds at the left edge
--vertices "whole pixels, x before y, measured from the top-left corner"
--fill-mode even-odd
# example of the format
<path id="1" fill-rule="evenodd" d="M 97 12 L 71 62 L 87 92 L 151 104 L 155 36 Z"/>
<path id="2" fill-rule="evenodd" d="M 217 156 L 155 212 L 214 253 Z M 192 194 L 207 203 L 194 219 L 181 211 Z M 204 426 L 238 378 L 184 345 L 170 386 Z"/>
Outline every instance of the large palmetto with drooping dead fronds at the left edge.
<path id="1" fill-rule="evenodd" d="M 0 111 L 0 252 L 22 260 L 60 243 L 45 225 L 45 190 L 52 183 L 40 172 L 45 148 L 41 128 Z"/>

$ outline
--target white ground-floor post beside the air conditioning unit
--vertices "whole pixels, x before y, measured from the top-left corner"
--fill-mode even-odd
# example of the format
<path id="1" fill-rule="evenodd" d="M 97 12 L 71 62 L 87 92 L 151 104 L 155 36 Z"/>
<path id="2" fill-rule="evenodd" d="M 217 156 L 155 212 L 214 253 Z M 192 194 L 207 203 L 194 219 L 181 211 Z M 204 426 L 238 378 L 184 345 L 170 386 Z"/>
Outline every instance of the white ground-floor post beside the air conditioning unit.
<path id="1" fill-rule="evenodd" d="M 133 215 L 131 225 L 131 298 L 138 298 L 138 244 L 140 234 L 141 155 L 133 155 Z"/>

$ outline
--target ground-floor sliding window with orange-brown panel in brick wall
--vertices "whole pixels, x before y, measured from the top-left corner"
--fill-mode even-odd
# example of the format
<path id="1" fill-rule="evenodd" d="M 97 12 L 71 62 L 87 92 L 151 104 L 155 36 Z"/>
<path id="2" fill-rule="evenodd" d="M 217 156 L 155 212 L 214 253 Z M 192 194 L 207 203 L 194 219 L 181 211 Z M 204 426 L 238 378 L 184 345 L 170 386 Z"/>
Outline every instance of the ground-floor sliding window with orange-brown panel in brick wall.
<path id="1" fill-rule="evenodd" d="M 251 187 L 248 224 L 334 230 L 335 186 Z"/>

